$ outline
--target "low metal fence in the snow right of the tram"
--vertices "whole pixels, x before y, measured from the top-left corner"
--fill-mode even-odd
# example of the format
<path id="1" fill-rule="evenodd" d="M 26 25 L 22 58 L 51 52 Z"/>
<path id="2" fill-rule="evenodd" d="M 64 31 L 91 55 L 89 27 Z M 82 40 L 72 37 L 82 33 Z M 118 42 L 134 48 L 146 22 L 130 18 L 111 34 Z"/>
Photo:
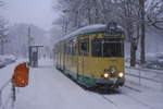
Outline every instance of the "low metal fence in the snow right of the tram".
<path id="1" fill-rule="evenodd" d="M 139 86 L 146 85 L 163 90 L 163 71 L 133 66 L 125 68 L 128 78 L 133 77 L 131 81 L 138 83 Z"/>

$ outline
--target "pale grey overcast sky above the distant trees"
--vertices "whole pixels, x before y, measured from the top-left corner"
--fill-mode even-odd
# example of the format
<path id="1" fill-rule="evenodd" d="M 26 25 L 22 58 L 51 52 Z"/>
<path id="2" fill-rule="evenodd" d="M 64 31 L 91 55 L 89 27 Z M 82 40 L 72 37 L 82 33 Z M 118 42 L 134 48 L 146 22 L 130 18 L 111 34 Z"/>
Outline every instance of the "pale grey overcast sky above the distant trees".
<path id="1" fill-rule="evenodd" d="M 7 3 L 3 8 L 3 15 L 11 24 L 32 23 L 45 29 L 51 27 L 57 19 L 58 12 L 52 10 L 54 0 L 3 0 Z"/>

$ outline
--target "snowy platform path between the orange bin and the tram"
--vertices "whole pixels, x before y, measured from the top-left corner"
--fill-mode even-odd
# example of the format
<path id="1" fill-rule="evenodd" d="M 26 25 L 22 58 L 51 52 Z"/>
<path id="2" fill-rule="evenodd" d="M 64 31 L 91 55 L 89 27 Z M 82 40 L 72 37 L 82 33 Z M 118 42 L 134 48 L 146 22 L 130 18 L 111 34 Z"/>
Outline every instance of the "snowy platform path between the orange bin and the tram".
<path id="1" fill-rule="evenodd" d="M 106 109 L 101 96 L 92 96 L 54 66 L 30 70 L 29 86 L 18 89 L 15 109 Z"/>

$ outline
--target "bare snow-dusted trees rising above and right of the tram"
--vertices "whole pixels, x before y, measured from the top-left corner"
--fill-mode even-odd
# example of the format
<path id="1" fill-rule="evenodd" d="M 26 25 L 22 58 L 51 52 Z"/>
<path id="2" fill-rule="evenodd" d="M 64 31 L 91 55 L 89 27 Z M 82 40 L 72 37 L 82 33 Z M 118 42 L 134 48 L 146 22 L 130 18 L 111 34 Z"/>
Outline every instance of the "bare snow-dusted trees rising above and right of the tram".
<path id="1" fill-rule="evenodd" d="M 141 63 L 145 63 L 146 27 L 163 28 L 163 0 L 58 0 L 54 10 L 64 33 L 78 27 L 118 22 L 130 43 L 130 65 L 136 63 L 136 51 L 141 39 Z"/>

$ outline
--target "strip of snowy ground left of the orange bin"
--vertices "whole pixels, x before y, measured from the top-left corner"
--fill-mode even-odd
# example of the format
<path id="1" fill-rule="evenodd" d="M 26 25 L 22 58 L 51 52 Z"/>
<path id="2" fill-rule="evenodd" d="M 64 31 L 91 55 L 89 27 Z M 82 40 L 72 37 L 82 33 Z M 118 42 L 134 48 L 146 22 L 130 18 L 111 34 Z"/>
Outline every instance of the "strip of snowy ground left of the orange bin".
<path id="1" fill-rule="evenodd" d="M 0 69 L 0 109 L 11 108 L 12 85 L 11 77 L 17 64 L 25 62 L 25 59 L 20 59 L 12 64 L 7 64 Z"/>

